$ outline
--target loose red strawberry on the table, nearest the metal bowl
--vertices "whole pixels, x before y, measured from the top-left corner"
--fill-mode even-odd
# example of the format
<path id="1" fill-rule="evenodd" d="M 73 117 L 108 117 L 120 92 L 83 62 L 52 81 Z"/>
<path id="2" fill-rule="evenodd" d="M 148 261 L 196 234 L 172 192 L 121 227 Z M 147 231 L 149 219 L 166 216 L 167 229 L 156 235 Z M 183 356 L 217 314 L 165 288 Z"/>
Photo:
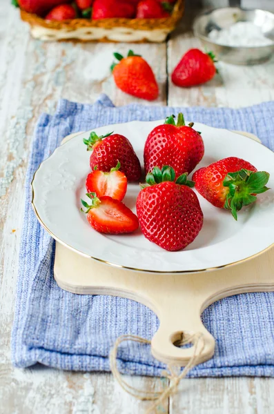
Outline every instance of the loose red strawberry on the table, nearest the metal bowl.
<path id="1" fill-rule="evenodd" d="M 199 49 L 190 49 L 173 70 L 171 79 L 177 86 L 188 88 L 210 81 L 217 72 L 215 56 Z"/>

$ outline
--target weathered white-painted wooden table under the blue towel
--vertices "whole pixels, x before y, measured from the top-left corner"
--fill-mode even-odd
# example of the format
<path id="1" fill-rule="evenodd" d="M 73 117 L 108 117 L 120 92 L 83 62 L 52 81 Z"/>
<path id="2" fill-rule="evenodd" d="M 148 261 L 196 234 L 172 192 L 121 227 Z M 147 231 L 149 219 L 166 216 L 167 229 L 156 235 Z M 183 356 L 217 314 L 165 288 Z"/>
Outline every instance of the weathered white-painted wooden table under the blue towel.
<path id="1" fill-rule="evenodd" d="M 185 19 L 188 21 L 189 19 Z M 23 182 L 37 118 L 54 112 L 59 98 L 95 101 L 106 92 L 115 105 L 140 102 L 117 90 L 108 71 L 115 50 L 129 48 L 153 67 L 160 86 L 155 105 L 248 106 L 274 99 L 274 65 L 240 67 L 219 63 L 220 75 L 205 86 L 181 89 L 170 72 L 182 54 L 198 46 L 182 28 L 164 44 L 74 44 L 33 41 L 10 0 L 0 3 L 0 413 L 135 414 L 148 404 L 121 391 L 108 373 L 72 373 L 10 364 Z M 96 70 L 99 68 L 99 70 Z M 141 101 L 144 105 L 146 101 Z M 130 384 L 153 389 L 159 380 L 128 377 Z M 220 378 L 184 380 L 162 408 L 172 414 L 263 414 L 273 412 L 274 379 Z"/>

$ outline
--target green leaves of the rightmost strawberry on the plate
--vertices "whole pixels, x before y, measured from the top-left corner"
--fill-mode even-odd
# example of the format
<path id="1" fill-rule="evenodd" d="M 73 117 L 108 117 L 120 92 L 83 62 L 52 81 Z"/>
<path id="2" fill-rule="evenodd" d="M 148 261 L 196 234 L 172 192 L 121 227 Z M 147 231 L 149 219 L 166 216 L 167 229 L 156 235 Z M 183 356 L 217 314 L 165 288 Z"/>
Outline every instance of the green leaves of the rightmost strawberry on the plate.
<path id="1" fill-rule="evenodd" d="M 237 220 L 237 211 L 256 201 L 257 194 L 269 190 L 266 187 L 268 179 L 269 174 L 266 171 L 253 172 L 242 168 L 237 172 L 228 172 L 223 181 L 224 187 L 228 187 L 224 208 L 231 210 Z"/>

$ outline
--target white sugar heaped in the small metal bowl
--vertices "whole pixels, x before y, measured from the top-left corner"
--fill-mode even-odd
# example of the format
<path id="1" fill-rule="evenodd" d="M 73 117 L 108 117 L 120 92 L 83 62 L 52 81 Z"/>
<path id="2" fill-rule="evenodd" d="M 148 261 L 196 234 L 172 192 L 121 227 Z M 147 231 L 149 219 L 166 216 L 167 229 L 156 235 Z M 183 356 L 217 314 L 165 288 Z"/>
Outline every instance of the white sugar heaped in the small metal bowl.
<path id="1" fill-rule="evenodd" d="M 260 27 L 250 21 L 238 21 L 230 28 L 212 30 L 208 36 L 211 40 L 223 46 L 267 46 L 273 41 L 264 36 Z"/>

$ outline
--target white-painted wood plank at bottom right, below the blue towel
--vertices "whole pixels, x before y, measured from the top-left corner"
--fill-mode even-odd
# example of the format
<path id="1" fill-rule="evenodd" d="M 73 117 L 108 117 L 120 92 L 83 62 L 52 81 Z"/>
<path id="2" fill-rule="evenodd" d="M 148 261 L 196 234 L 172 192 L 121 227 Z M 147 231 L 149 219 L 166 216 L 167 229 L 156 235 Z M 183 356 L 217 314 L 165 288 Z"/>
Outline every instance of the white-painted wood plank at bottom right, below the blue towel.
<path id="1" fill-rule="evenodd" d="M 273 378 L 230 377 L 183 380 L 170 399 L 170 414 L 269 414 Z"/>

